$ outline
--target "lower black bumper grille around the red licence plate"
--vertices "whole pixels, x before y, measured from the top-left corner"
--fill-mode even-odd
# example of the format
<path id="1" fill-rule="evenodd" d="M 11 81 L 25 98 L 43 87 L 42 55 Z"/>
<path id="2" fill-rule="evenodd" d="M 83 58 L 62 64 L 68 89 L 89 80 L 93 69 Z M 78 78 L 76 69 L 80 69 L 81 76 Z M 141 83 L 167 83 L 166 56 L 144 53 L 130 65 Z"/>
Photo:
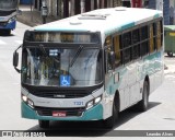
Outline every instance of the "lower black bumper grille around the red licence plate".
<path id="1" fill-rule="evenodd" d="M 35 110 L 39 116 L 52 116 L 52 112 L 66 112 L 67 117 L 80 117 L 82 116 L 85 107 L 77 107 L 77 108 L 50 108 L 50 107 L 38 107 L 35 106 Z"/>

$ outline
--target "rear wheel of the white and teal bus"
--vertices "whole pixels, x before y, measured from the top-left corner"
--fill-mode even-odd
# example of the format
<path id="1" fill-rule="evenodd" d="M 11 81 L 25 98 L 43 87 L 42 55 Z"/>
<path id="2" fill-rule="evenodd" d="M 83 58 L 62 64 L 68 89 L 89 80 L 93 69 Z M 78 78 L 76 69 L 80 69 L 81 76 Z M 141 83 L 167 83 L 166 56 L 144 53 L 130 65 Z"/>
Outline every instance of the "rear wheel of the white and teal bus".
<path id="1" fill-rule="evenodd" d="M 144 81 L 143 83 L 143 92 L 142 100 L 138 103 L 137 108 L 139 112 L 145 112 L 149 105 L 149 83 Z"/>

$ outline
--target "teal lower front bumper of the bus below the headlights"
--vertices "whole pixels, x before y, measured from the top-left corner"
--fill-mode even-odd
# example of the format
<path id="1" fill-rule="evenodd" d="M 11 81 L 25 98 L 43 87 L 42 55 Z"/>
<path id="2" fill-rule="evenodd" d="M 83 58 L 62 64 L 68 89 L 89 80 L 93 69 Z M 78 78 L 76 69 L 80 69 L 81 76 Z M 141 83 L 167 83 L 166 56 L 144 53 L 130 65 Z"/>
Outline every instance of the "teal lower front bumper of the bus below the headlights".
<path id="1" fill-rule="evenodd" d="M 24 102 L 21 103 L 22 117 L 28 119 L 39 120 L 68 120 L 68 121 L 85 121 L 85 120 L 101 120 L 103 119 L 103 105 L 100 103 L 94 107 L 85 110 L 80 117 L 52 117 L 39 116 L 36 110 L 32 109 Z"/>

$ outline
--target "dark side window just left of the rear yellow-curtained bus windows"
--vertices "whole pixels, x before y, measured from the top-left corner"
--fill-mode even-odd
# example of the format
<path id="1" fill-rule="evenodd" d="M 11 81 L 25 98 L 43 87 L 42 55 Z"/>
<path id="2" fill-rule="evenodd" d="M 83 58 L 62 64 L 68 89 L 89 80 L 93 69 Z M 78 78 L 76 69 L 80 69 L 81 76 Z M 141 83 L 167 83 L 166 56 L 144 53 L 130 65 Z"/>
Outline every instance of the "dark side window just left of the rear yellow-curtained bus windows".
<path id="1" fill-rule="evenodd" d="M 149 54 L 149 33 L 148 26 L 142 26 L 140 30 L 141 34 L 141 56 Z"/>

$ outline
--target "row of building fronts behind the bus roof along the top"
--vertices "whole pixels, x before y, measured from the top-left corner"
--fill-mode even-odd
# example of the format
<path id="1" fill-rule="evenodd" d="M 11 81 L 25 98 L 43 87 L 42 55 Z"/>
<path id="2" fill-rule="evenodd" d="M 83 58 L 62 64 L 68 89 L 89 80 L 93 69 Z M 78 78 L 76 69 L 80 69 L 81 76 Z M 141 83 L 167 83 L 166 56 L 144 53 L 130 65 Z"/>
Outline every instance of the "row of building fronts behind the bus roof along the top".
<path id="1" fill-rule="evenodd" d="M 63 19 L 95 9 L 114 7 L 149 8 L 163 11 L 164 24 L 174 24 L 175 0 L 33 0 L 34 8 L 40 11 L 46 1 L 48 15 Z"/>

